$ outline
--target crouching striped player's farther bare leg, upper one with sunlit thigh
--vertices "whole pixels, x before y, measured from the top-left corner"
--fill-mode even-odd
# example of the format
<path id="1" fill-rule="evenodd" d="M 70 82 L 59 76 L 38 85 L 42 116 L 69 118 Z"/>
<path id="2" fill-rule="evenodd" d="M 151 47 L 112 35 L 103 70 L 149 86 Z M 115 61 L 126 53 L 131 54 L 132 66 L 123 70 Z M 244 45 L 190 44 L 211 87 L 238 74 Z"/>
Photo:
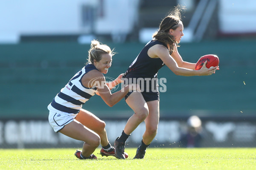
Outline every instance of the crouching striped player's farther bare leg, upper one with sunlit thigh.
<path id="1" fill-rule="evenodd" d="M 96 132 L 101 142 L 100 144 L 102 146 L 107 146 L 108 136 L 105 130 L 105 122 L 99 119 L 97 116 L 95 116 L 93 113 L 90 113 L 89 111 L 86 111 L 84 109 L 81 109 L 80 112 L 76 116 L 76 120 L 79 121 L 84 126 L 88 127 L 90 130 L 93 130 Z"/>

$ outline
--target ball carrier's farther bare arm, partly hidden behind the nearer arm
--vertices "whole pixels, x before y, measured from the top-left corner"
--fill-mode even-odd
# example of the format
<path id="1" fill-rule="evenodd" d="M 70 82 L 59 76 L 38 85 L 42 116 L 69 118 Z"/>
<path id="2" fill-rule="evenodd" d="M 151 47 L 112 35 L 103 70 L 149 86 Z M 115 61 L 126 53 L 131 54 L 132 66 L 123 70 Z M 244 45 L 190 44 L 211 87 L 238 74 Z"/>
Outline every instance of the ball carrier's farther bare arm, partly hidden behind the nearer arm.
<path id="1" fill-rule="evenodd" d="M 195 64 L 196 63 L 183 61 L 182 57 L 180 56 L 180 54 L 178 52 L 177 46 L 174 46 L 174 49 L 172 51 L 171 56 L 172 56 L 173 59 L 175 59 L 175 61 L 177 62 L 177 65 L 179 67 L 195 70 Z"/>

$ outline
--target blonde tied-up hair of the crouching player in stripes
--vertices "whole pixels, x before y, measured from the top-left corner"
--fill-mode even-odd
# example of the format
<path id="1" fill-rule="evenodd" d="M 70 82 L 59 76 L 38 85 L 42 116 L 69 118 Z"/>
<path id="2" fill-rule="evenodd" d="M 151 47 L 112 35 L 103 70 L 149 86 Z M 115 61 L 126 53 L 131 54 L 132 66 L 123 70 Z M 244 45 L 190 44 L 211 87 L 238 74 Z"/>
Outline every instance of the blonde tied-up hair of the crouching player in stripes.
<path id="1" fill-rule="evenodd" d="M 102 54 L 113 56 L 115 53 L 108 45 L 102 44 L 97 40 L 92 40 L 90 50 L 88 51 L 88 62 L 86 64 L 93 64 L 94 61 L 99 62 L 102 59 Z"/>

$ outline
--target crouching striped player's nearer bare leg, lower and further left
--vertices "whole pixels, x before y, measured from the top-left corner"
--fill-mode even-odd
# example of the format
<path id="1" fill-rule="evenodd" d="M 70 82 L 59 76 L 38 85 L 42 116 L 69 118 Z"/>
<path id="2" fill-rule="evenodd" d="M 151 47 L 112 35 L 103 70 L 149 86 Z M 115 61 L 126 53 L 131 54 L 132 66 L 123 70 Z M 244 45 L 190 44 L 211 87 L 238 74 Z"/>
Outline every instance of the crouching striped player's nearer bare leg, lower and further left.
<path id="1" fill-rule="evenodd" d="M 99 135 L 82 125 L 76 119 L 65 125 L 59 132 L 70 138 L 84 141 L 82 155 L 85 157 L 90 156 L 100 144 Z"/>

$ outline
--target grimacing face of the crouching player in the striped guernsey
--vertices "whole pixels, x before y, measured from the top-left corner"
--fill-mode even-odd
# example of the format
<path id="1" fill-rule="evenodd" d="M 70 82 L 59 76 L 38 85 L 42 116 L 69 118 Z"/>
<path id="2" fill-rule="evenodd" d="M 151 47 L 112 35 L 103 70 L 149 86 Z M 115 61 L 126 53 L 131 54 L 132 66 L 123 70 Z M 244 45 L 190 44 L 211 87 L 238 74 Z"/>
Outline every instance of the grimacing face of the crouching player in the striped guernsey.
<path id="1" fill-rule="evenodd" d="M 111 54 L 102 54 L 102 59 L 99 62 L 94 62 L 95 67 L 103 74 L 108 73 L 108 68 L 111 67 L 112 56 Z"/>

